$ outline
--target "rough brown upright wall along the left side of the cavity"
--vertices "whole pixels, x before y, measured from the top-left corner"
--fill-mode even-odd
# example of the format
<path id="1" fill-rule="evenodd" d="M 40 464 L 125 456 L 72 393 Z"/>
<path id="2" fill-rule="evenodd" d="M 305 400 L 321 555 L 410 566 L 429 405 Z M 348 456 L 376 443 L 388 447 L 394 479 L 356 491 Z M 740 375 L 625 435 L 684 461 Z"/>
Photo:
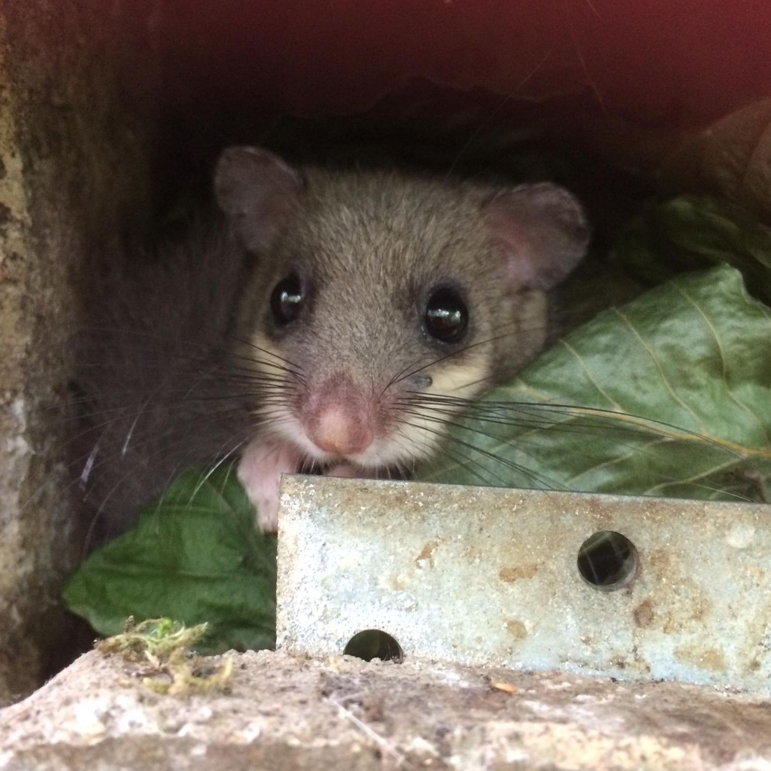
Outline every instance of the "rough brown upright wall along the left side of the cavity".
<path id="1" fill-rule="evenodd" d="M 149 6 L 0 2 L 0 704 L 41 682 L 82 554 L 59 462 L 72 275 L 146 209 Z"/>

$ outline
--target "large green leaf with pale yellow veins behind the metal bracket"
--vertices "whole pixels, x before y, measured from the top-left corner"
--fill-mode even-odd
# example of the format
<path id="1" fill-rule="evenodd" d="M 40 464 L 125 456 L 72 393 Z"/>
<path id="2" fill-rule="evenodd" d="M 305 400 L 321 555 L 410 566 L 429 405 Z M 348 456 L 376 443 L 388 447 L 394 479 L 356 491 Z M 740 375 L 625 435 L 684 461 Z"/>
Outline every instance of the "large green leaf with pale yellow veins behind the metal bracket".
<path id="1" fill-rule="evenodd" d="M 763 498 L 769 352 L 771 311 L 747 295 L 739 271 L 682 274 L 604 311 L 488 393 L 419 477 Z"/>

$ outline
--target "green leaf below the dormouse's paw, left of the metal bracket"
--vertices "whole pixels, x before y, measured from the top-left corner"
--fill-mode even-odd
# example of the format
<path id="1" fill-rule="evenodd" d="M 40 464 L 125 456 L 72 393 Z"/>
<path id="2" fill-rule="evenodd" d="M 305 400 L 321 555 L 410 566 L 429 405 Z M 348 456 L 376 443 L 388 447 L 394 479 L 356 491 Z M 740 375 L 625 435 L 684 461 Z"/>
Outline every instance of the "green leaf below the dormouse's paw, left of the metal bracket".
<path id="1" fill-rule="evenodd" d="M 92 554 L 64 590 L 69 609 L 102 635 L 126 617 L 208 623 L 201 653 L 272 648 L 273 537 L 230 468 L 182 473 L 133 530 Z"/>

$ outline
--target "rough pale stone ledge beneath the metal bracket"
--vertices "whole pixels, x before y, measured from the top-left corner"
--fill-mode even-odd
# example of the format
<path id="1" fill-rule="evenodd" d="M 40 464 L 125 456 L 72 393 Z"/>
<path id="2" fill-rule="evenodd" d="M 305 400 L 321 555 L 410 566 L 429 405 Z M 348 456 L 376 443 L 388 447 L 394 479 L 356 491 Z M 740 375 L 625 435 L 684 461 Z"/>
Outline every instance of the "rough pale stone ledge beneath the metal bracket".
<path id="1" fill-rule="evenodd" d="M 771 702 L 409 660 L 235 656 L 225 693 L 160 695 L 84 655 L 0 712 L 0 769 L 771 768 Z"/>

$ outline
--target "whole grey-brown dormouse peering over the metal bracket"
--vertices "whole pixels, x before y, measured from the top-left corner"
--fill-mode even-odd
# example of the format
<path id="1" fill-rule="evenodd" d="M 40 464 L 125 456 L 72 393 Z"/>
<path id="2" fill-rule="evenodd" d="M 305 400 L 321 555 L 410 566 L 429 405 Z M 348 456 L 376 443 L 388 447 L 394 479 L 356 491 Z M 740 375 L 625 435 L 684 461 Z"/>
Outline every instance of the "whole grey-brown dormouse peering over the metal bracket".
<path id="1" fill-rule="evenodd" d="M 99 452 L 125 459 L 126 426 L 133 435 L 144 426 L 150 444 L 177 437 L 145 502 L 167 470 L 238 456 L 263 530 L 276 527 L 281 473 L 409 475 L 441 452 L 464 400 L 543 348 L 549 291 L 589 238 L 580 205 L 549 183 L 295 168 L 254 147 L 224 151 L 214 194 L 223 221 L 197 236 L 194 258 L 173 261 L 173 273 L 193 274 L 164 290 L 177 305 L 167 308 L 172 322 L 143 307 L 126 319 L 149 327 L 140 335 L 177 342 L 156 401 L 137 386 L 148 391 L 144 414 L 111 421 Z M 134 350 L 137 368 L 160 372 L 167 347 L 154 346 L 154 370 L 141 342 Z M 149 449 L 139 453 L 153 466 Z M 89 474 L 98 476 L 97 461 L 116 476 L 94 454 Z"/>

